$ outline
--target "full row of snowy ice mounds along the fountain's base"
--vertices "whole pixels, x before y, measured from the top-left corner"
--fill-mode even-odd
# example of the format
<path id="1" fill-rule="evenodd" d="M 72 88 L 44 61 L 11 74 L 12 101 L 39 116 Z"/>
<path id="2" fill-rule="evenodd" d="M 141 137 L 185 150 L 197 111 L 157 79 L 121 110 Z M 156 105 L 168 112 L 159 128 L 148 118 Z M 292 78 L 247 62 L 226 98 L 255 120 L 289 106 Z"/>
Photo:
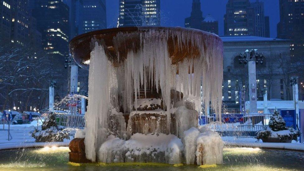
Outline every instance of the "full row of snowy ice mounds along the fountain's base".
<path id="1" fill-rule="evenodd" d="M 134 134 L 129 140 L 109 135 L 101 145 L 98 160 L 104 163 L 158 162 L 167 164 L 220 164 L 223 141 L 208 128 L 190 128 L 184 138 L 175 135 Z"/>

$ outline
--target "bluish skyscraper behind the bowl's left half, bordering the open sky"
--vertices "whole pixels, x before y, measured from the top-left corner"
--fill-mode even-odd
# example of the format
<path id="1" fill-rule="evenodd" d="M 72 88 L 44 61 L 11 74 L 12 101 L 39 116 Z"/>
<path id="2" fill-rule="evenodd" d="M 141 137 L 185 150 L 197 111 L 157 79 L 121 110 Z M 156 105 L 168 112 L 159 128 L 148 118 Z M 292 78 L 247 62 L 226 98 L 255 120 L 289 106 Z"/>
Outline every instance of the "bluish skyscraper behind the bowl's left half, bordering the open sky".
<path id="1" fill-rule="evenodd" d="M 107 28 L 106 0 L 83 0 L 82 33 Z"/>

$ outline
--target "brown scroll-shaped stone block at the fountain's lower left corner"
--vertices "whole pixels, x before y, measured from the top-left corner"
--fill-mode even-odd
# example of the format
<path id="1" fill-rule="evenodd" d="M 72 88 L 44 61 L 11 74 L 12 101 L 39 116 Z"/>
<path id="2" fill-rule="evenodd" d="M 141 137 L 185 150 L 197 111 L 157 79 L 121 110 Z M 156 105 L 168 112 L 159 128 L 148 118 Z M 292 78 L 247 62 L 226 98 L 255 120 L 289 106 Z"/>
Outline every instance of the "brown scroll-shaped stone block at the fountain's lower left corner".
<path id="1" fill-rule="evenodd" d="M 69 161 L 74 163 L 91 163 L 90 160 L 86 158 L 84 138 L 74 138 L 70 144 L 69 149 Z"/>

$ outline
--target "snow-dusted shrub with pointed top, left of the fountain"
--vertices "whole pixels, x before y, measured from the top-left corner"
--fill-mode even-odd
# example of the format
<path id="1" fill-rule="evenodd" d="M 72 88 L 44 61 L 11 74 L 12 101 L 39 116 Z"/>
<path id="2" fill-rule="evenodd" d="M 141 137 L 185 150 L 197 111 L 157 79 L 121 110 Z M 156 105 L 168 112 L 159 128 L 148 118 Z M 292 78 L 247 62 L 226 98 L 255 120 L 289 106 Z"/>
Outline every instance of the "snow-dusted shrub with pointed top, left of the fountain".
<path id="1" fill-rule="evenodd" d="M 56 114 L 52 112 L 45 118 L 42 126 L 37 126 L 31 131 L 31 135 L 36 142 L 62 142 L 63 139 L 69 139 L 69 131 L 58 129 Z"/>

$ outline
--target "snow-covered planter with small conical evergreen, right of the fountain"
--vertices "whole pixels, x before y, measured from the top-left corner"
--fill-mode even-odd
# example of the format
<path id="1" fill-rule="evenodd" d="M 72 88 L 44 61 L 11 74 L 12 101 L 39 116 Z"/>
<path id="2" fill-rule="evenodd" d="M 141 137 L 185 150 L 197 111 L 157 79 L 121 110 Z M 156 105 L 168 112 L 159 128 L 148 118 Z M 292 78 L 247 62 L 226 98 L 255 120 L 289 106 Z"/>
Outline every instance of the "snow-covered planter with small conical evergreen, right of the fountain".
<path id="1" fill-rule="evenodd" d="M 300 131 L 287 128 L 283 117 L 275 111 L 270 117 L 268 126 L 264 130 L 258 131 L 256 138 L 263 142 L 291 143 L 292 140 L 297 141 L 298 136 L 300 136 Z"/>

